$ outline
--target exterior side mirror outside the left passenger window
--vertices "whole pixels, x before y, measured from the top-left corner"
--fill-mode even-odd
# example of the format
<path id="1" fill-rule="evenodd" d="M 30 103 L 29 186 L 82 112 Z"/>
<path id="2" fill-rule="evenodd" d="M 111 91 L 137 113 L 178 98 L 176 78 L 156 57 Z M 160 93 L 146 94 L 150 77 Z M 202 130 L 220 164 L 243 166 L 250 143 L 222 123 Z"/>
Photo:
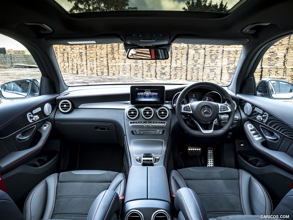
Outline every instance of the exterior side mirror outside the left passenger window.
<path id="1" fill-rule="evenodd" d="M 36 79 L 17 79 L 0 86 L 1 99 L 27 99 L 39 95 L 40 85 Z"/>

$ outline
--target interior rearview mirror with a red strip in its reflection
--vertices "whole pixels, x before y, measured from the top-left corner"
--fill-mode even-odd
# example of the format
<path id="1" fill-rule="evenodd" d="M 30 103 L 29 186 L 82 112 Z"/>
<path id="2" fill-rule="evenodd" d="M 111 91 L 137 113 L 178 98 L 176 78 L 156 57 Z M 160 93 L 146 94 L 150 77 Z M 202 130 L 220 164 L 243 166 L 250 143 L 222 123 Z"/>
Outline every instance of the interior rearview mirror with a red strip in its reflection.
<path id="1" fill-rule="evenodd" d="M 168 50 L 159 48 L 130 48 L 127 58 L 133 60 L 166 60 L 169 58 Z"/>

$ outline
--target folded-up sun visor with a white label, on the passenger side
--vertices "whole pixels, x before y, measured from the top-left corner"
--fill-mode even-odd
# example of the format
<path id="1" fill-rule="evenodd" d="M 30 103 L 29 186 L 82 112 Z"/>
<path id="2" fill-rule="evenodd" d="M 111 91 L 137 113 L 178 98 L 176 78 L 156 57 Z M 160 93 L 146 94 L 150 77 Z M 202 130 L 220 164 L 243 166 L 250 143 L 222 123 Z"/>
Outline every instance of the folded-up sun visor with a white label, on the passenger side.
<path id="1" fill-rule="evenodd" d="M 102 36 L 93 38 L 49 38 L 47 39 L 47 42 L 52 45 L 124 43 L 121 38 L 116 36 Z"/>

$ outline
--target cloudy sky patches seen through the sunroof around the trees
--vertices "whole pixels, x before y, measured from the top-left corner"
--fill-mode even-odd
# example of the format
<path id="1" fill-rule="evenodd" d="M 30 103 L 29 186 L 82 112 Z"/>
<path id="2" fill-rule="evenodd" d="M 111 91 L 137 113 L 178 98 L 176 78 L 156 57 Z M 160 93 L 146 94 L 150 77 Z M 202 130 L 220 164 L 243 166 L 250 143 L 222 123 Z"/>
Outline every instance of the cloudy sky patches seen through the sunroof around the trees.
<path id="1" fill-rule="evenodd" d="M 69 11 L 73 3 L 68 0 L 55 0 L 65 10 Z M 190 0 L 191 1 L 191 0 Z M 232 8 L 239 0 L 223 0 L 228 8 Z M 182 11 L 183 7 L 186 7 L 186 0 L 129 0 L 130 7 L 137 7 L 138 10 L 170 10 L 170 11 Z M 208 0 L 209 2 L 209 0 Z M 221 0 L 212 0 L 213 4 L 220 3 Z"/>

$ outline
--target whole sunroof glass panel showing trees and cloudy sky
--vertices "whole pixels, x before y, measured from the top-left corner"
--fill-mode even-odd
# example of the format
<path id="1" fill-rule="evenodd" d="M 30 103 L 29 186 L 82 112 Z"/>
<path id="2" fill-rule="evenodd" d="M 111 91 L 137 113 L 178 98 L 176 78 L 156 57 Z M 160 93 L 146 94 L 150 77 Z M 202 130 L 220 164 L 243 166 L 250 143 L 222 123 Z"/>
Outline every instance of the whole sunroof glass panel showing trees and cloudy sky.
<path id="1" fill-rule="evenodd" d="M 55 0 L 69 13 L 99 11 L 202 11 L 226 13 L 245 0 Z"/>

